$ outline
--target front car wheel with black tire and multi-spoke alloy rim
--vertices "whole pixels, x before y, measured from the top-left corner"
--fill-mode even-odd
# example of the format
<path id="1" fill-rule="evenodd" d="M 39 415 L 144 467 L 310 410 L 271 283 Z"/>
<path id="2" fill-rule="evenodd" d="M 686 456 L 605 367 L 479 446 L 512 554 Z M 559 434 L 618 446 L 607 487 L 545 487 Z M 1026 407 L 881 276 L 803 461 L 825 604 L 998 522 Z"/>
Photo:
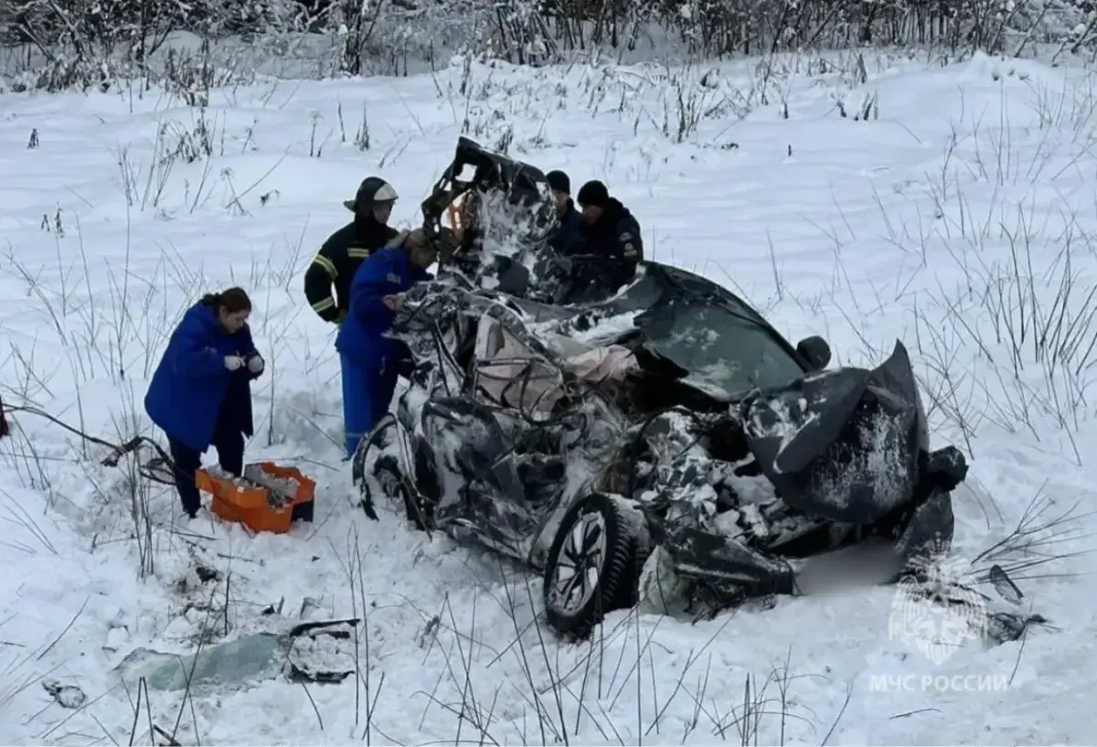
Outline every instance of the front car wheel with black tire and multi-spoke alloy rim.
<path id="1" fill-rule="evenodd" d="M 585 638 L 635 589 L 636 511 L 620 498 L 591 494 L 561 519 L 544 573 L 548 624 L 572 638 Z M 581 565 L 581 579 L 576 564 Z M 567 573 L 567 571 L 572 573 Z"/>

